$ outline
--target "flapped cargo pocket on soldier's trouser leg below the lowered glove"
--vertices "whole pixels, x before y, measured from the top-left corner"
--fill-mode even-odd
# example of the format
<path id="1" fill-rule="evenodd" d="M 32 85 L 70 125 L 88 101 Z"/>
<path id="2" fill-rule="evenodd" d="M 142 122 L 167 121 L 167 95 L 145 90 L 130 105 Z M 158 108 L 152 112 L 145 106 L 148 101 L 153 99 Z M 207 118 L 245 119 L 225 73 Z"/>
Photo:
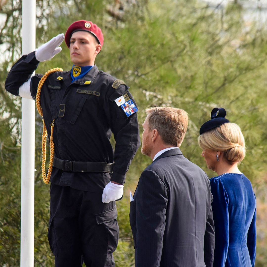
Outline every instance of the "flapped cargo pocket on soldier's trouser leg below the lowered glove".
<path id="1" fill-rule="evenodd" d="M 119 239 L 117 209 L 96 214 L 94 249 L 96 254 L 107 254 L 115 251 Z"/>

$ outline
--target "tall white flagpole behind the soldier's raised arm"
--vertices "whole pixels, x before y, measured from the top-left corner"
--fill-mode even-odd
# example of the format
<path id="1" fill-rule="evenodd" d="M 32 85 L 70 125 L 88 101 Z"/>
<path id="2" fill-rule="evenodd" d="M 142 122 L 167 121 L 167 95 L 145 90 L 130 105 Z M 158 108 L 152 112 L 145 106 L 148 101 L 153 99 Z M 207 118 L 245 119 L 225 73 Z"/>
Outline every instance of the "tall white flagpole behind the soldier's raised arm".
<path id="1" fill-rule="evenodd" d="M 22 1 L 22 54 L 35 50 L 35 0 Z M 22 99 L 20 266 L 33 267 L 35 102 Z"/>

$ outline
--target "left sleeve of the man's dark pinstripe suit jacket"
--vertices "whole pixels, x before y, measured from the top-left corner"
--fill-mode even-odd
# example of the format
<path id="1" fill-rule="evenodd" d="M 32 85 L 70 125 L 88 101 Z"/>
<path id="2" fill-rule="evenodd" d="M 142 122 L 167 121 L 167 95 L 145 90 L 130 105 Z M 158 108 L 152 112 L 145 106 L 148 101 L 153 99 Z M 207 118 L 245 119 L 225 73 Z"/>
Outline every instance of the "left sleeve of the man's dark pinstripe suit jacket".
<path id="1" fill-rule="evenodd" d="M 141 174 L 136 201 L 135 266 L 157 267 L 162 255 L 168 197 L 154 171 Z"/>

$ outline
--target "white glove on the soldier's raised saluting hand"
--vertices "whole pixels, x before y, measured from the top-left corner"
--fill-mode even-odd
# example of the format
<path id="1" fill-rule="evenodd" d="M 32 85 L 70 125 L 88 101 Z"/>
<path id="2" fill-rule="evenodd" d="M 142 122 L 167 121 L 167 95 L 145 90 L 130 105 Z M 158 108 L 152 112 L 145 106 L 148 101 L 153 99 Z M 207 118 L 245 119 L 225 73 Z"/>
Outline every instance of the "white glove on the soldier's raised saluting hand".
<path id="1" fill-rule="evenodd" d="M 63 40 L 64 40 L 64 34 L 60 33 L 57 36 L 53 37 L 47 43 L 41 45 L 39 48 L 36 49 L 35 52 L 36 59 L 40 62 L 44 62 L 46 60 L 49 60 L 56 54 L 58 54 L 61 51 L 61 47 L 59 45 L 61 45 Z"/>

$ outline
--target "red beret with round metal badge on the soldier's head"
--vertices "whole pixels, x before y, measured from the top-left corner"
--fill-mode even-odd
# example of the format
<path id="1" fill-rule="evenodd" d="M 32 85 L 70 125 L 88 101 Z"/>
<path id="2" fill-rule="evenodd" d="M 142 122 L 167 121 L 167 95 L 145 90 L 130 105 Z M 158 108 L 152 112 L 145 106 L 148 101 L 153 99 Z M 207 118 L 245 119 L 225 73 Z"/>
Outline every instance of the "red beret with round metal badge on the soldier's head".
<path id="1" fill-rule="evenodd" d="M 65 33 L 65 42 L 68 48 L 70 46 L 70 38 L 72 34 L 77 31 L 86 31 L 86 32 L 92 33 L 93 36 L 96 37 L 101 47 L 103 46 L 104 37 L 103 37 L 103 33 L 101 29 L 96 24 L 94 24 L 92 21 L 79 20 L 79 21 L 73 22 Z"/>

